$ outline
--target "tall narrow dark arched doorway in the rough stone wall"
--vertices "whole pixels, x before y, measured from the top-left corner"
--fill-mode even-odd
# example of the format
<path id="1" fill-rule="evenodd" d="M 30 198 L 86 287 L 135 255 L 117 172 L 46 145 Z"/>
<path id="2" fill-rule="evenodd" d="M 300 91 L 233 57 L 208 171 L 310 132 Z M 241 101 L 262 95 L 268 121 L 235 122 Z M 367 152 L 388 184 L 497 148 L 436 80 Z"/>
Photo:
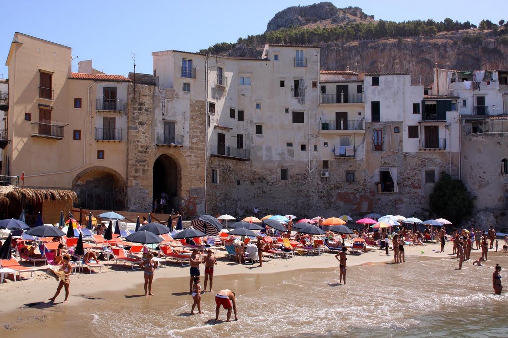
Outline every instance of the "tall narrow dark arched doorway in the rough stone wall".
<path id="1" fill-rule="evenodd" d="M 159 156 L 153 163 L 153 197 L 157 200 L 157 212 L 170 213 L 179 209 L 178 189 L 180 177 L 178 165 L 168 155 Z M 161 199 L 165 198 L 166 207 L 161 210 Z"/>

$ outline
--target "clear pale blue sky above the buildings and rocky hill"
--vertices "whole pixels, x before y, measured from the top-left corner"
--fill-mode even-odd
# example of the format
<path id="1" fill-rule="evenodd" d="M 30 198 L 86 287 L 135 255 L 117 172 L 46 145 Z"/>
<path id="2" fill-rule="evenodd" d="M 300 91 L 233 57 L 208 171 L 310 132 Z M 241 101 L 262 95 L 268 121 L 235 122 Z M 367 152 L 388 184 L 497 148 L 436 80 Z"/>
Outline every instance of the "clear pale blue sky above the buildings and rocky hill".
<path id="1" fill-rule="evenodd" d="M 331 0 L 336 7 L 358 6 L 375 19 L 404 21 L 447 17 L 478 24 L 482 19 L 508 20 L 508 1 L 472 0 Z M 73 56 L 93 60 L 109 74 L 133 70 L 152 72 L 151 53 L 164 50 L 197 52 L 217 42 L 266 30 L 275 13 L 311 0 L 151 1 L 2 1 L 0 78 L 15 31 L 71 46 Z M 410 4 L 410 5 L 408 5 Z M 504 17 L 503 17 L 504 15 Z M 41 17 L 45 18 L 41 20 Z"/>

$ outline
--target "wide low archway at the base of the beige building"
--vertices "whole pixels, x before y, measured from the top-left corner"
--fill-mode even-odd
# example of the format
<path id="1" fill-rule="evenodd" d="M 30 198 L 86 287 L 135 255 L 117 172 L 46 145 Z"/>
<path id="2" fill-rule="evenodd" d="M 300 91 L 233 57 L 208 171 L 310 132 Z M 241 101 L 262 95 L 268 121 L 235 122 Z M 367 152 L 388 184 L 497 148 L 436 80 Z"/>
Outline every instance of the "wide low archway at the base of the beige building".
<path id="1" fill-rule="evenodd" d="M 92 210 L 123 210 L 125 180 L 108 167 L 91 167 L 81 171 L 73 180 L 72 189 L 78 195 L 79 208 Z"/>

